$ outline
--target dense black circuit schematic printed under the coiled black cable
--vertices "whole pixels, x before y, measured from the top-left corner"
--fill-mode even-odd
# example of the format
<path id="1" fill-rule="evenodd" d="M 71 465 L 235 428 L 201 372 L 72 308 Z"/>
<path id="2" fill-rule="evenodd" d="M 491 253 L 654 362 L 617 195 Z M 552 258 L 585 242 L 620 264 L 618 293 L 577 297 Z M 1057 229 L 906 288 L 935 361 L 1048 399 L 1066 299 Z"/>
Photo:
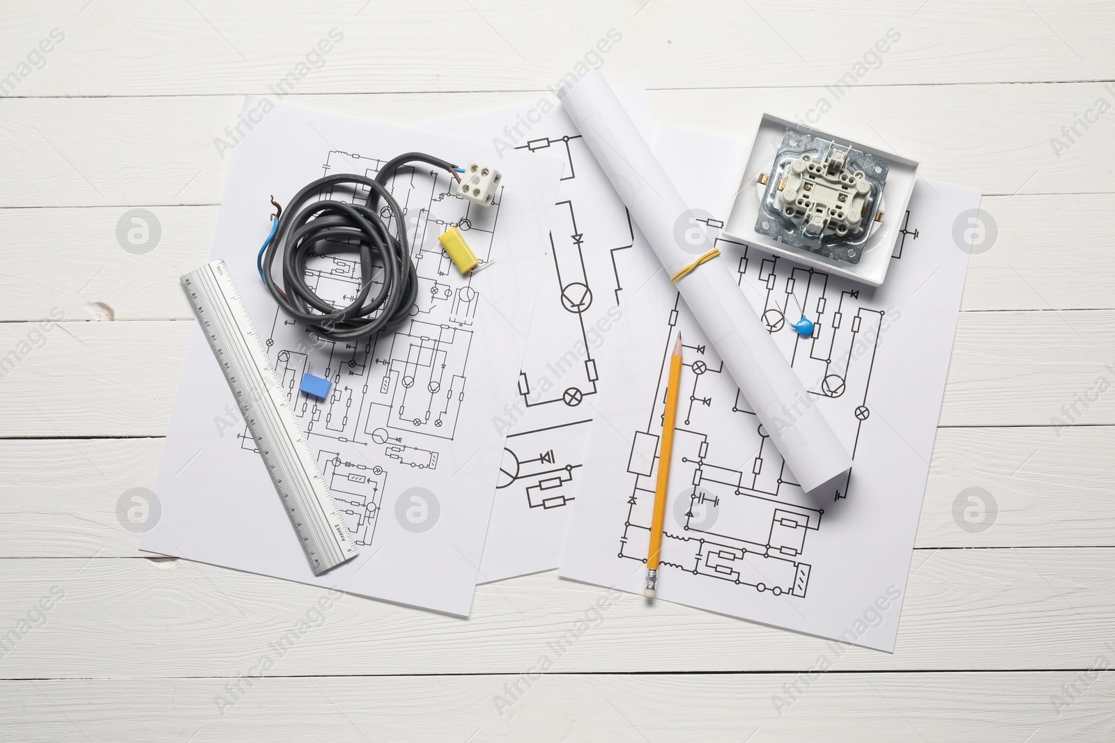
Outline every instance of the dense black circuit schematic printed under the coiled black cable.
<path id="1" fill-rule="evenodd" d="M 326 174 L 343 169 L 375 177 L 385 163 L 331 150 L 322 167 Z M 318 463 L 358 545 L 372 542 L 391 470 L 436 470 L 445 443 L 456 436 L 481 296 L 472 277 L 453 268 L 437 238 L 457 227 L 486 263 L 492 260 L 500 211 L 500 197 L 491 208 L 479 207 L 457 196 L 455 182 L 435 168 L 401 167 L 388 188 L 403 214 L 390 214 L 382 206 L 381 216 L 389 219 L 391 229 L 397 222 L 406 225 L 418 274 L 418 297 L 410 317 L 375 336 L 339 342 L 313 335 L 277 307 L 265 340 L 295 417 L 318 451 Z M 360 202 L 368 192 L 323 189 L 320 197 Z M 380 271 L 377 265 L 372 284 L 380 283 Z M 358 258 L 332 253 L 313 254 L 304 278 L 333 306 L 351 303 L 363 281 Z M 289 338 L 278 332 L 287 327 L 293 327 L 301 340 L 277 342 L 277 338 Z M 299 391 L 304 373 L 332 382 L 326 399 Z M 239 438 L 242 449 L 254 451 L 246 427 Z M 338 442 L 360 447 L 360 461 L 340 453 Z"/>

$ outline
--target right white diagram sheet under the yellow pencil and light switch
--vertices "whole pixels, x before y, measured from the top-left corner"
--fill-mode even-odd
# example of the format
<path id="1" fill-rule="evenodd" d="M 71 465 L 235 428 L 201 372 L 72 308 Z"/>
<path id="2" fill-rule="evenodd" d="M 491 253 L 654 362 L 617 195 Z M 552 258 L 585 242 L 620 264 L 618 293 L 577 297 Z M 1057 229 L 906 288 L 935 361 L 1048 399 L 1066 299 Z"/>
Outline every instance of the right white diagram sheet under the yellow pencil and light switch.
<path id="1" fill-rule="evenodd" d="M 597 407 L 561 575 L 642 592 L 680 332 L 659 598 L 892 652 L 980 195 L 919 180 L 909 211 L 885 215 L 902 231 L 872 289 L 720 236 L 747 150 L 676 127 L 656 144 L 691 208 L 683 229 L 705 232 L 736 272 L 852 470 L 804 492 L 653 255 L 630 252 L 623 270 L 642 285 L 599 363 L 617 383 Z M 803 314 L 806 336 L 792 327 Z"/>

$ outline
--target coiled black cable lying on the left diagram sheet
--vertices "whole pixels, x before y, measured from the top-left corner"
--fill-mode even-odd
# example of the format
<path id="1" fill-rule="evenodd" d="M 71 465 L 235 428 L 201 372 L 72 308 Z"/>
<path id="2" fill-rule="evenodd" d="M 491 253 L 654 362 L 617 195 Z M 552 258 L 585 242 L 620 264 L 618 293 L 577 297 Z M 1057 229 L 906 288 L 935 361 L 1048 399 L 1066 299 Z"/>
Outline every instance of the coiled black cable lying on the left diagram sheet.
<path id="1" fill-rule="evenodd" d="M 262 255 L 262 275 L 271 296 L 290 317 L 306 323 L 318 336 L 330 341 L 367 338 L 408 316 L 418 295 L 418 274 L 410 260 L 403 209 L 387 189 L 387 182 L 407 163 L 425 163 L 456 176 L 447 160 L 407 153 L 388 162 L 376 178 L 338 173 L 318 178 L 298 192 L 279 219 L 274 237 Z M 326 188 L 352 189 L 353 203 L 319 199 Z M 355 203 L 361 187 L 368 188 L 363 204 Z M 380 216 L 380 201 L 387 214 Z M 388 223 L 395 218 L 395 231 Z M 306 264 L 313 255 L 357 251 L 360 254 L 360 289 L 351 304 L 333 307 L 306 283 Z M 271 266 L 282 253 L 282 285 L 271 281 Z M 384 273 L 379 291 L 370 296 L 375 260 Z M 371 316 L 375 315 L 375 316 Z"/>

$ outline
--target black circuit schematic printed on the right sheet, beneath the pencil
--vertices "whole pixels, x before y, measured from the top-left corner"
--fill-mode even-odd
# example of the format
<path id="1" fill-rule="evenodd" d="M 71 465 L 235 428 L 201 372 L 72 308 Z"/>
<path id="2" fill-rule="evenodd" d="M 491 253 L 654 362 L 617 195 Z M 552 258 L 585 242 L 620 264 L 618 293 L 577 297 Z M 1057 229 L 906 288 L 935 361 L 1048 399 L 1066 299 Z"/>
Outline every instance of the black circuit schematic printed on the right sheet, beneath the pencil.
<path id="1" fill-rule="evenodd" d="M 908 238 L 918 236 L 908 222 L 909 214 L 895 260 L 909 247 Z M 707 226 L 717 247 L 738 255 L 738 283 L 763 297 L 764 325 L 854 461 L 862 428 L 873 424 L 869 392 L 885 311 L 816 268 L 720 237 L 723 224 L 715 219 Z M 802 314 L 814 322 L 806 338 L 789 326 Z M 661 322 L 658 383 L 644 424 L 631 434 L 627 472 L 632 486 L 619 537 L 618 557 L 638 561 L 646 560 L 649 544 L 670 349 L 679 330 L 683 343 L 702 338 L 680 296 L 663 309 Z M 727 447 L 718 442 L 718 430 L 747 431 L 747 443 L 740 447 L 734 438 Z M 823 528 L 824 509 L 805 497 L 715 351 L 704 344 L 685 345 L 670 479 L 685 485 L 668 493 L 663 568 L 772 596 L 806 596 L 813 570 L 808 535 Z M 852 482 L 849 472 L 830 497 L 847 498 Z"/>

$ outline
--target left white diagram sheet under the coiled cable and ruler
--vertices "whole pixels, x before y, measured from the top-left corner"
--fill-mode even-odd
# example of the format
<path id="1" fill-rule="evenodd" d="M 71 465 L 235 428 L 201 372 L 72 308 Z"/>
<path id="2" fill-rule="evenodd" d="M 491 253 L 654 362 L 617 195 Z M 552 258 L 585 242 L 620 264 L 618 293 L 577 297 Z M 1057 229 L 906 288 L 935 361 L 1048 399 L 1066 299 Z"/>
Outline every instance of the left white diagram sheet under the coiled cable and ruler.
<path id="1" fill-rule="evenodd" d="M 466 616 L 505 436 L 491 421 L 514 394 L 562 162 L 255 99 L 244 110 L 256 115 L 233 154 L 212 258 L 230 266 L 360 554 L 313 576 L 196 327 L 156 478 L 159 518 L 140 546 Z M 381 205 L 380 216 L 407 231 L 418 299 L 371 338 L 324 341 L 279 311 L 256 272 L 270 196 L 284 204 L 327 174 L 375 177 L 408 151 L 498 163 L 502 186 L 482 207 L 457 196 L 446 172 L 400 168 L 388 186 L 403 213 Z M 321 197 L 362 203 L 367 193 Z M 438 243 L 452 227 L 489 265 L 462 276 Z M 355 253 L 314 254 L 304 275 L 334 306 L 365 281 Z M 326 399 L 299 390 L 304 373 L 332 382 Z"/>

